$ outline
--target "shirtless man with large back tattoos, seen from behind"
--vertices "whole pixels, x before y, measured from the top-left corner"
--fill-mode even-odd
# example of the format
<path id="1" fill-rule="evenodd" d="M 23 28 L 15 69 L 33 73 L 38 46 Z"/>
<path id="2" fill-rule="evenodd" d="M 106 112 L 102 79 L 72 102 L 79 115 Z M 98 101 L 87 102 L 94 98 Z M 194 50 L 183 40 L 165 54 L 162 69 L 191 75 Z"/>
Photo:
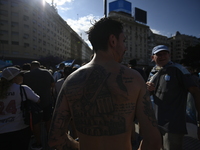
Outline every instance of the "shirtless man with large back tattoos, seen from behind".
<path id="1" fill-rule="evenodd" d="M 145 82 L 139 73 L 121 65 L 126 51 L 120 22 L 102 18 L 90 28 L 94 57 L 72 73 L 59 94 L 49 135 L 57 150 L 132 150 L 131 131 L 137 117 L 142 150 L 160 150 L 157 129 Z M 79 142 L 67 133 L 70 119 Z"/>

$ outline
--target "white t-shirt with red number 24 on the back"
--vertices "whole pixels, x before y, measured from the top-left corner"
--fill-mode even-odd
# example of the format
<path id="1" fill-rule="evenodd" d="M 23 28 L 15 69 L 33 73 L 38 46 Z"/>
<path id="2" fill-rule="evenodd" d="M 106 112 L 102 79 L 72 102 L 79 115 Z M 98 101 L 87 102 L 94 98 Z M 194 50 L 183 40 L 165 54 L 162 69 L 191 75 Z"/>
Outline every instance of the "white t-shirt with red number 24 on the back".
<path id="1" fill-rule="evenodd" d="M 27 98 L 33 102 L 39 100 L 39 96 L 34 91 L 22 85 L 26 91 Z M 0 99 L 0 134 L 18 131 L 28 127 L 24 124 L 22 117 L 20 85 L 13 83 L 7 91 L 7 98 Z M 24 94 L 23 94 L 24 96 Z M 26 100 L 24 97 L 23 100 Z"/>

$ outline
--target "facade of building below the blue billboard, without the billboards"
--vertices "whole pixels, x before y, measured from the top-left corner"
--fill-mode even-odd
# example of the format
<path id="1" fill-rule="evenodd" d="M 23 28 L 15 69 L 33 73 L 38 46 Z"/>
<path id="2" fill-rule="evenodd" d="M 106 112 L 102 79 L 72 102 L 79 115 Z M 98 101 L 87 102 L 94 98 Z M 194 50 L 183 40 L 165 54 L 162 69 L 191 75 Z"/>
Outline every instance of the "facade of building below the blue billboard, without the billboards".
<path id="1" fill-rule="evenodd" d="M 124 25 L 127 51 L 123 63 L 136 59 L 138 65 L 147 65 L 149 26 L 136 22 L 134 17 L 123 12 L 112 11 L 109 13 L 109 17 L 123 22 Z"/>

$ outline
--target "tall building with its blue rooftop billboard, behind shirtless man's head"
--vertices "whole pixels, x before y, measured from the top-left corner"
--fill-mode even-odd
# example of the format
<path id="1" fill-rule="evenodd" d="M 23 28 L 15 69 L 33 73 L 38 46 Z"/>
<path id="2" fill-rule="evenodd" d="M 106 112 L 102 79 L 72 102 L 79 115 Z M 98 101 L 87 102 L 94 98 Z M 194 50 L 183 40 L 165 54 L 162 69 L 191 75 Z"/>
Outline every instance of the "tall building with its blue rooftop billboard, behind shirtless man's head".
<path id="1" fill-rule="evenodd" d="M 125 0 L 117 0 L 109 4 L 109 17 L 120 20 L 124 24 L 124 33 L 127 36 L 123 62 L 128 63 L 136 59 L 138 65 L 148 64 L 148 32 L 149 26 L 138 22 L 132 16 L 132 6 Z"/>

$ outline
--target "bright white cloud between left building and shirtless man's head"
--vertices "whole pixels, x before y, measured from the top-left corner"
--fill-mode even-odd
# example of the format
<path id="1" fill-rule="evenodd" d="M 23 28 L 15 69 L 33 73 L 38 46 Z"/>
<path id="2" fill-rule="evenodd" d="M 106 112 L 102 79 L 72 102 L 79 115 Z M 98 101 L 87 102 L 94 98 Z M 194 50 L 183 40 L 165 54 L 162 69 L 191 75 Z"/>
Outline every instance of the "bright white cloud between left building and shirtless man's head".
<path id="1" fill-rule="evenodd" d="M 87 31 L 95 21 L 98 21 L 101 17 L 94 16 L 92 14 L 80 17 L 78 20 L 67 19 L 67 24 L 91 47 L 91 44 L 87 37 Z"/>

